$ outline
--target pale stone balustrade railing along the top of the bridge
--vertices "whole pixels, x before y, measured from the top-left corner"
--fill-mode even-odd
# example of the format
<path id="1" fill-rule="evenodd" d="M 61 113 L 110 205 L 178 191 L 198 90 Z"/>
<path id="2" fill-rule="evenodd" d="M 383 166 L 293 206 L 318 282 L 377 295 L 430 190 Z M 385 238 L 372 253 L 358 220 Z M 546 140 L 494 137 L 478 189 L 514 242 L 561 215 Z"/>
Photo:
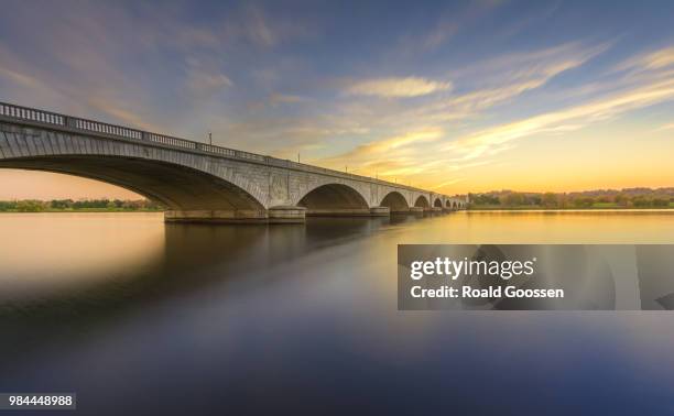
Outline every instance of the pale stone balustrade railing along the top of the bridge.
<path id="1" fill-rule="evenodd" d="M 94 133 L 112 135 L 112 136 L 118 136 L 118 138 L 123 138 L 123 139 L 154 142 L 154 143 L 159 143 L 159 144 L 167 145 L 172 147 L 178 147 L 178 149 L 185 149 L 185 150 L 196 150 L 196 151 L 220 155 L 225 157 L 253 161 L 258 163 L 268 164 L 271 166 L 297 168 L 302 171 L 307 171 L 307 172 L 313 172 L 313 173 L 323 173 L 327 175 L 339 175 L 343 177 L 349 177 L 349 178 L 354 178 L 358 180 L 377 182 L 383 185 L 396 186 L 396 187 L 407 188 L 407 189 L 413 189 L 413 190 L 422 190 L 422 189 L 416 189 L 414 187 L 405 186 L 402 184 L 393 184 L 387 180 L 374 179 L 368 176 L 361 176 L 361 175 L 355 175 L 355 174 L 349 174 L 345 172 L 333 171 L 333 169 L 328 169 L 325 167 L 307 165 L 304 163 L 293 162 L 289 160 L 282 160 L 282 158 L 272 157 L 272 156 L 263 156 L 261 154 L 238 151 L 238 150 L 222 147 L 222 146 L 213 145 L 213 144 L 193 142 L 191 140 L 174 138 L 171 135 L 152 133 L 152 132 L 131 129 L 127 127 L 104 123 L 100 121 L 87 120 L 87 119 L 81 119 L 78 117 L 70 117 L 70 116 L 59 114 L 56 112 L 15 106 L 15 105 L 7 103 L 7 102 L 0 102 L 0 117 L 17 119 L 17 120 L 24 120 L 24 121 L 29 121 L 32 123 L 59 125 L 59 127 L 64 127 L 70 130 L 94 132 Z"/>

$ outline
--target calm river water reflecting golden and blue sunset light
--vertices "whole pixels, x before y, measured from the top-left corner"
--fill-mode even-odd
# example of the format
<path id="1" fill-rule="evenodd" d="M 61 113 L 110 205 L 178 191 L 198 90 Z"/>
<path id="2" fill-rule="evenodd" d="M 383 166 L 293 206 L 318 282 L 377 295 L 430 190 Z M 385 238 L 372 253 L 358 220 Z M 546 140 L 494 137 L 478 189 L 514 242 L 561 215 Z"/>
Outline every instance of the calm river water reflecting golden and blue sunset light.
<path id="1" fill-rule="evenodd" d="M 674 414 L 674 313 L 398 311 L 395 276 L 399 243 L 674 243 L 674 212 L 7 214 L 0 237 L 0 392 L 78 414 Z"/>

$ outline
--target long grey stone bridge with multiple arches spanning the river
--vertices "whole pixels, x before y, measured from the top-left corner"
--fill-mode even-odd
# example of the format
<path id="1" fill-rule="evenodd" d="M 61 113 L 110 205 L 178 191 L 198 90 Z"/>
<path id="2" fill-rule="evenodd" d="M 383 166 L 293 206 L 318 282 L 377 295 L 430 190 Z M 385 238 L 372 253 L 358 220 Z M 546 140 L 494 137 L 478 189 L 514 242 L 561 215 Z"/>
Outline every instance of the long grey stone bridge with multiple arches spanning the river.
<path id="1" fill-rule="evenodd" d="M 0 102 L 0 168 L 98 179 L 167 207 L 167 221 L 302 222 L 464 209 L 371 177 Z"/>

